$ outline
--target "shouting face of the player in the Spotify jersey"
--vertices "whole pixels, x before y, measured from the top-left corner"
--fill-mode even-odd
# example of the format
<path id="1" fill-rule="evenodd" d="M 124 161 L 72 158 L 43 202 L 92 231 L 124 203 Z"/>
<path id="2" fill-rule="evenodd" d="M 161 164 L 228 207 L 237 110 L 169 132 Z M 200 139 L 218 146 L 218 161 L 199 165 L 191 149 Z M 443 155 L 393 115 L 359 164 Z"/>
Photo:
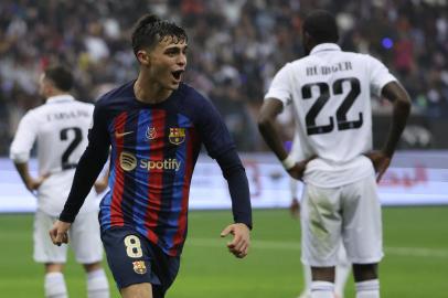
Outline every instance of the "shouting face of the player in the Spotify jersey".
<path id="1" fill-rule="evenodd" d="M 164 89 L 177 89 L 186 67 L 185 41 L 168 36 L 148 53 L 149 77 Z"/>

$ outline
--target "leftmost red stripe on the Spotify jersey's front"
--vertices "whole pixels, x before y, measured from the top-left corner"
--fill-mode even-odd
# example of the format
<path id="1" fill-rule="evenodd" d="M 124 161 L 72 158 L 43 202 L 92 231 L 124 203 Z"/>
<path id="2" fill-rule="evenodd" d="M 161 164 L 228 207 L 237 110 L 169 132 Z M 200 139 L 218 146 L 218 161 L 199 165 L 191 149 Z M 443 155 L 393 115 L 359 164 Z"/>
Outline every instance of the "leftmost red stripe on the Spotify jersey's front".
<path id="1" fill-rule="evenodd" d="M 121 201 L 122 201 L 122 191 L 125 187 L 125 175 L 120 166 L 120 156 L 124 147 L 124 137 L 117 137 L 116 134 L 125 132 L 125 124 L 127 119 L 127 113 L 121 113 L 114 120 L 114 142 L 115 142 L 115 183 L 113 189 L 113 199 L 110 203 L 110 225 L 111 226 L 122 226 L 125 221 L 122 217 Z"/>

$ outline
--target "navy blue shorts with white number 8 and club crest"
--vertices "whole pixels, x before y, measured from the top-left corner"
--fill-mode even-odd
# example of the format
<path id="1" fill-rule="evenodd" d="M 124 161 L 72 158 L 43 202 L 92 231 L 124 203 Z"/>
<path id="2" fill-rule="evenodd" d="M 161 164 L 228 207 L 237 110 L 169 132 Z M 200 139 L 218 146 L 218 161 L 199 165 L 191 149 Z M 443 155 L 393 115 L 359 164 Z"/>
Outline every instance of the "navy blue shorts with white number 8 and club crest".
<path id="1" fill-rule="evenodd" d="M 129 227 L 102 231 L 107 263 L 117 287 L 150 283 L 154 298 L 164 297 L 179 272 L 180 257 L 169 256 Z"/>

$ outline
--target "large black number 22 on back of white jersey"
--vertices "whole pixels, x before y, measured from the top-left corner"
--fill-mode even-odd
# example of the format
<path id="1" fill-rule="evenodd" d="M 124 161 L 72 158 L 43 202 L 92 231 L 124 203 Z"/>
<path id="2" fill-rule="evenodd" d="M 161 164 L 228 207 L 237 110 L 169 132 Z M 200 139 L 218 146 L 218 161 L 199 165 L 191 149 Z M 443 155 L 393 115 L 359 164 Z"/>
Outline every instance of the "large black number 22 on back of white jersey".
<path id="1" fill-rule="evenodd" d="M 359 118 L 356 120 L 348 120 L 346 113 L 352 107 L 354 100 L 356 100 L 358 96 L 361 93 L 360 81 L 355 77 L 346 77 L 337 79 L 331 85 L 327 83 L 310 83 L 303 85 L 301 88 L 302 98 L 305 100 L 314 98 L 311 94 L 311 87 L 318 86 L 319 87 L 319 96 L 316 103 L 311 106 L 309 111 L 306 115 L 305 121 L 307 124 L 307 134 L 308 135 L 319 135 L 319 134 L 327 134 L 334 129 L 334 117 L 330 116 L 330 123 L 328 125 L 316 125 L 316 118 L 318 114 L 327 104 L 328 99 L 331 97 L 331 93 L 334 95 L 340 95 L 343 93 L 342 84 L 344 82 L 350 83 L 350 92 L 346 94 L 345 98 L 342 100 L 342 104 L 338 107 L 335 119 L 338 123 L 339 130 L 345 129 L 356 129 L 360 128 L 363 124 L 363 114 L 359 114 Z"/>

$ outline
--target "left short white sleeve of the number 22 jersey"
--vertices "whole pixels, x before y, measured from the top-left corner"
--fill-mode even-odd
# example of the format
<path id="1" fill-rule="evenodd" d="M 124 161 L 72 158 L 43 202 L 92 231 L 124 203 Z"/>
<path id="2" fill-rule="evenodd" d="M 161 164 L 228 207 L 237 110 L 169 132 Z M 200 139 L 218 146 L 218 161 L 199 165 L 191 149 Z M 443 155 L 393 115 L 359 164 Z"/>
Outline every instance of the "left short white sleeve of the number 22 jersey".
<path id="1" fill-rule="evenodd" d="M 270 83 L 270 87 L 265 95 L 265 99 L 267 98 L 277 98 L 284 106 L 288 105 L 291 102 L 291 77 L 290 77 L 290 70 L 291 64 L 286 64 L 278 73 L 274 76 L 273 82 Z"/>

